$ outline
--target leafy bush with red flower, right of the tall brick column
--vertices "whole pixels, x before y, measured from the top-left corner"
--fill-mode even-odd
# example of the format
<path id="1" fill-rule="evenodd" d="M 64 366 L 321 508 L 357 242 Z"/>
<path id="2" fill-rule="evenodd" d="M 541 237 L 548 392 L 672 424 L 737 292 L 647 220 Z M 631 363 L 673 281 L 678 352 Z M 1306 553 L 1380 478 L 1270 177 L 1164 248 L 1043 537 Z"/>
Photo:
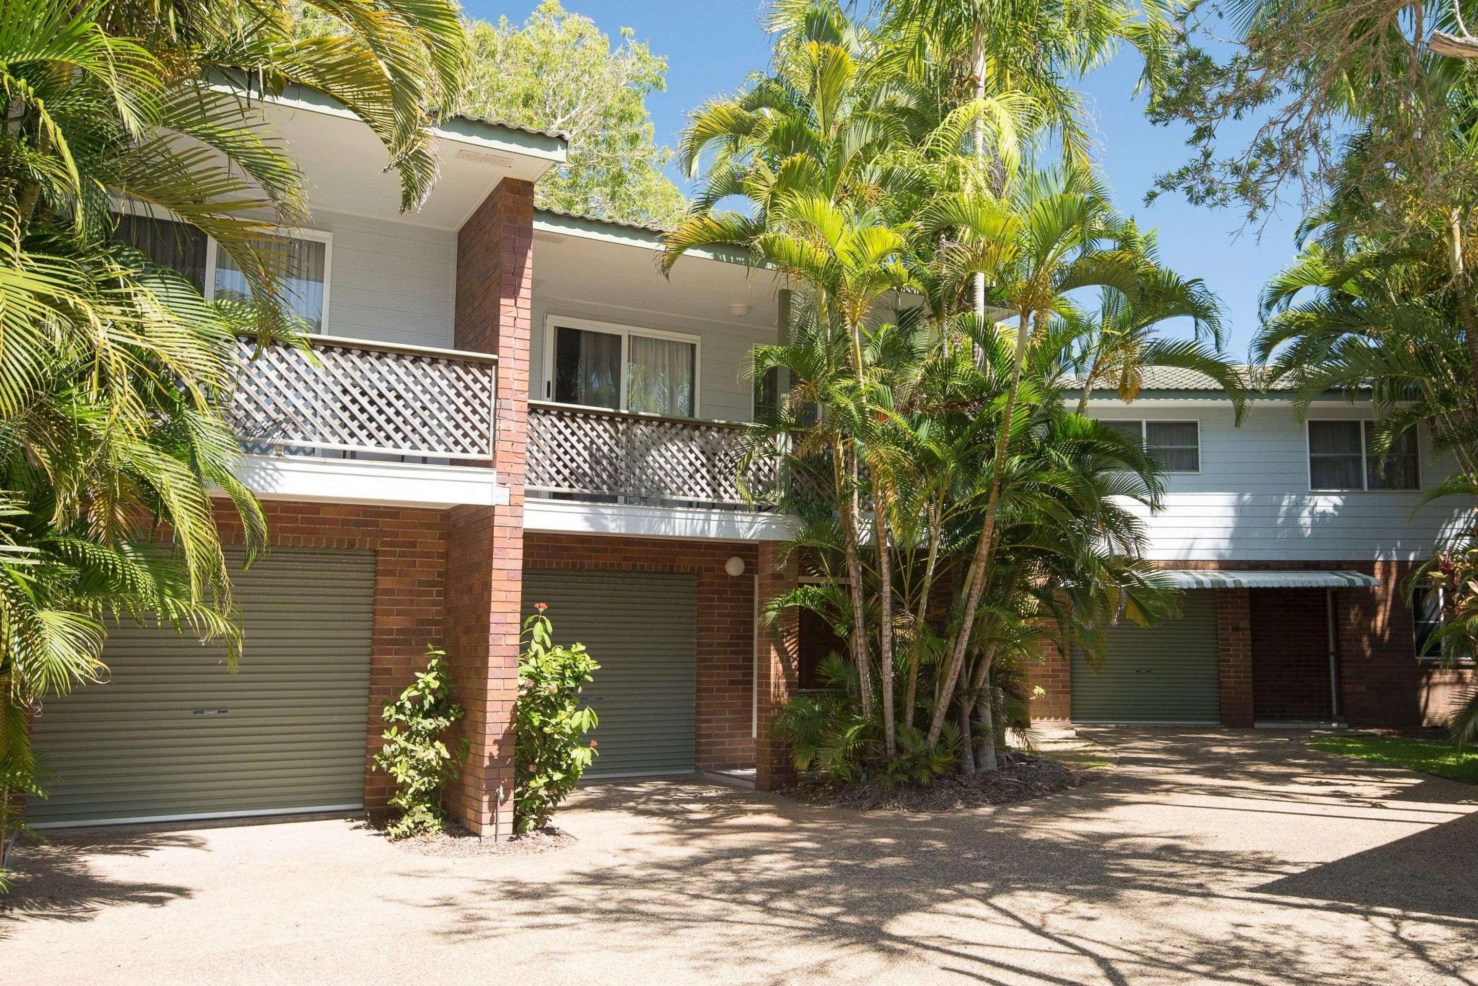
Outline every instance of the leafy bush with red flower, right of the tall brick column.
<path id="1" fill-rule="evenodd" d="M 519 656 L 519 701 L 514 718 L 513 831 L 548 825 L 560 801 L 575 789 L 596 757 L 596 710 L 581 708 L 579 690 L 600 665 L 585 645 L 559 647 L 550 634 L 547 606 L 523 621 L 526 647 Z"/>

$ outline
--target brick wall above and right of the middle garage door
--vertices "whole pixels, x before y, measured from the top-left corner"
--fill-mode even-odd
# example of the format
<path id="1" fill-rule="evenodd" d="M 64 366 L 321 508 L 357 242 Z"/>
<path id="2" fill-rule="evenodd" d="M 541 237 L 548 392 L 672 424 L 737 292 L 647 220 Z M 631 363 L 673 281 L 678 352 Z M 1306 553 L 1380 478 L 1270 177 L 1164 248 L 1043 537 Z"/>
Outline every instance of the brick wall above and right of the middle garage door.
<path id="1" fill-rule="evenodd" d="M 724 571 L 735 554 L 745 560 L 738 578 Z M 523 563 L 531 569 L 695 574 L 698 769 L 754 763 L 754 577 L 761 572 L 755 544 L 529 534 Z"/>

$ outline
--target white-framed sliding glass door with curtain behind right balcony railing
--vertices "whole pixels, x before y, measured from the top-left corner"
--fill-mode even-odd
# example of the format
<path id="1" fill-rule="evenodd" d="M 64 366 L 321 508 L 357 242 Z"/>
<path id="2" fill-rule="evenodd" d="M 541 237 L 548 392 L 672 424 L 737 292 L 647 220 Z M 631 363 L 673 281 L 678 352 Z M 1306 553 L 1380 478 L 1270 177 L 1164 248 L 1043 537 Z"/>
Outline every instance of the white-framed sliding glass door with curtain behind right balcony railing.
<path id="1" fill-rule="evenodd" d="M 551 322 L 548 396 L 612 411 L 698 415 L 698 341 L 633 328 Z"/>

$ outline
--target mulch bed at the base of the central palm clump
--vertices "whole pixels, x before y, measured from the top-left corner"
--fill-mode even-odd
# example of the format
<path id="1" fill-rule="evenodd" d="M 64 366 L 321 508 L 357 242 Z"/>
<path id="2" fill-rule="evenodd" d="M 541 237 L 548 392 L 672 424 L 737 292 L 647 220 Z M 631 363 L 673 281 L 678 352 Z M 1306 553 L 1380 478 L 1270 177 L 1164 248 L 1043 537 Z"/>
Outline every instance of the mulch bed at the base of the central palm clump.
<path id="1" fill-rule="evenodd" d="M 1001 770 L 996 773 L 940 778 L 928 786 L 903 783 L 884 788 L 876 782 L 841 786 L 801 783 L 788 788 L 785 794 L 806 804 L 835 809 L 952 812 L 987 804 L 1029 801 L 1043 794 L 1082 786 L 1089 778 L 1088 772 L 1075 770 L 1057 760 L 1009 751 L 1004 754 Z"/>

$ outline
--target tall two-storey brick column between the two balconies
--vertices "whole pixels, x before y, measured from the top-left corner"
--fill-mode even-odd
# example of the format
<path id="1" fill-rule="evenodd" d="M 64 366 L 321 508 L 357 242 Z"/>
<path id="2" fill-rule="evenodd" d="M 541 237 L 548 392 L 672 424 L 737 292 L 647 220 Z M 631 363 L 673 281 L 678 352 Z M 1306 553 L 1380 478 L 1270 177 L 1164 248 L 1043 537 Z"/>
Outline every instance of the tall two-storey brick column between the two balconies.
<path id="1" fill-rule="evenodd" d="M 504 179 L 457 234 L 457 347 L 498 355 L 492 464 L 508 504 L 454 507 L 446 522 L 446 649 L 471 742 L 448 809 L 488 837 L 513 831 L 532 291 L 534 185 Z"/>

